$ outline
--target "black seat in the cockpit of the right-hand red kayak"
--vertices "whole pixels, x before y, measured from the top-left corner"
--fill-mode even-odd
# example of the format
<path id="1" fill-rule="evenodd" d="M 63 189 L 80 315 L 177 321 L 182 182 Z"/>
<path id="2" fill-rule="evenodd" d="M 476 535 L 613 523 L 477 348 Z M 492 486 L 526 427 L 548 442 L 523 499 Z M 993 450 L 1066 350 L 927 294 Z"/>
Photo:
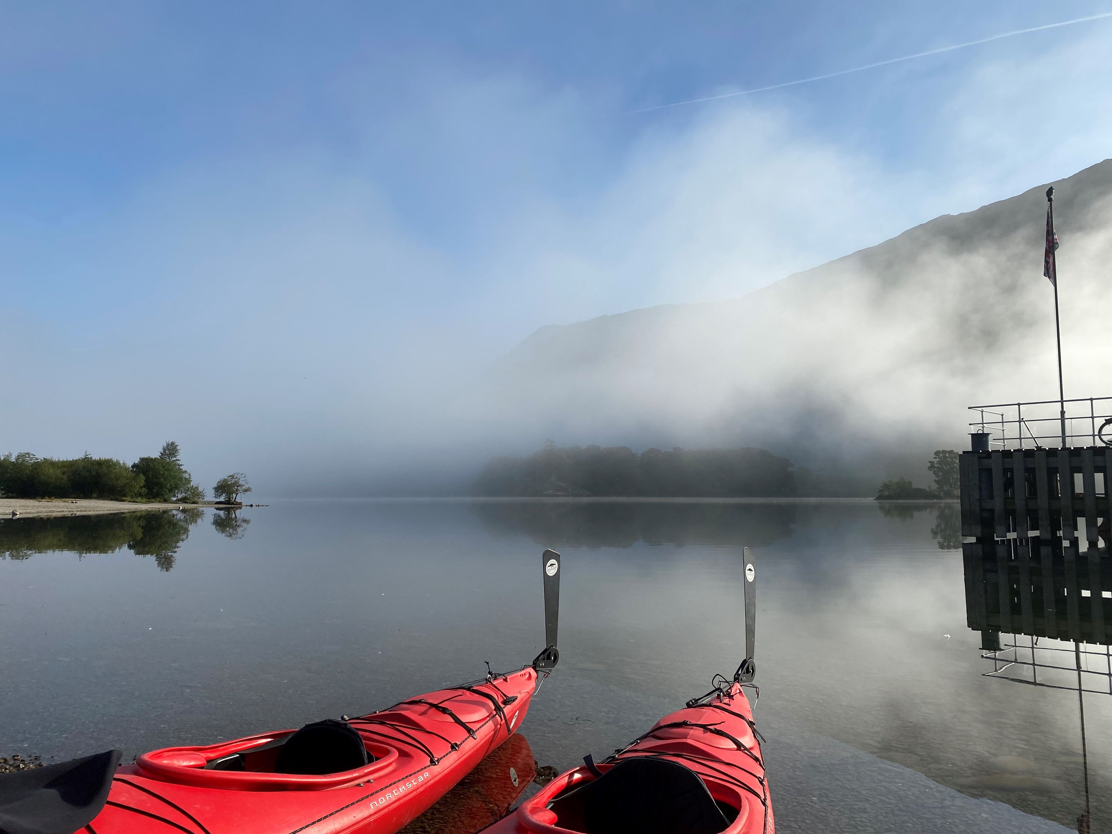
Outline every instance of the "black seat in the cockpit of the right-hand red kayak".
<path id="1" fill-rule="evenodd" d="M 557 825 L 585 834 L 718 834 L 729 825 L 698 774 L 664 758 L 626 758 L 549 807 Z"/>

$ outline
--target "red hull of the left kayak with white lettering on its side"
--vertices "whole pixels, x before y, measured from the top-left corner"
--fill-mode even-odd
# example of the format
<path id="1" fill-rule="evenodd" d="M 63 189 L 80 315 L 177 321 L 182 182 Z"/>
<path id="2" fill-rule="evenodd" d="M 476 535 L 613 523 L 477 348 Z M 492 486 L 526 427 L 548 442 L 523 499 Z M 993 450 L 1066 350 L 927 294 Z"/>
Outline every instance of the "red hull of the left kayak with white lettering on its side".
<path id="1" fill-rule="evenodd" d="M 146 753 L 120 767 L 89 834 L 394 834 L 525 718 L 532 667 L 418 695 L 349 719 L 374 761 L 324 775 L 275 773 L 294 731 Z M 242 756 L 238 771 L 214 762 Z"/>

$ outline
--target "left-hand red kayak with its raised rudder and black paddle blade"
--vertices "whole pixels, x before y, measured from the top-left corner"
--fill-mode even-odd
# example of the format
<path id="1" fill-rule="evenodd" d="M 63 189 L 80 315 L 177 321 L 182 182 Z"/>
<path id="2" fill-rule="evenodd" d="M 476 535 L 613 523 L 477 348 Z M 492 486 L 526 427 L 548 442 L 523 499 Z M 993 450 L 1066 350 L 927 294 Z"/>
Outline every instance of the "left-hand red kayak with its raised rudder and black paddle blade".
<path id="1" fill-rule="evenodd" d="M 0 776 L 8 834 L 394 834 L 522 724 L 559 659 L 559 555 L 546 550 L 547 648 L 532 665 L 388 709 L 117 767 L 119 751 Z"/>

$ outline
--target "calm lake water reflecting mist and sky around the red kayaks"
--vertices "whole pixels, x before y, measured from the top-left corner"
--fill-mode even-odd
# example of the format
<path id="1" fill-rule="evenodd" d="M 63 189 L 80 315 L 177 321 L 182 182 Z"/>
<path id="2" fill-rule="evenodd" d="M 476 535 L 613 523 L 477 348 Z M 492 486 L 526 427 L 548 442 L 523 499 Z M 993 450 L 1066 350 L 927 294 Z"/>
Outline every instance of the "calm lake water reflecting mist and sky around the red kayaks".
<path id="1" fill-rule="evenodd" d="M 1084 811 L 1078 695 L 986 678 L 956 509 L 874 502 L 278 502 L 0 522 L 0 756 L 63 759 L 356 714 L 544 642 L 523 727 L 564 770 L 647 729 L 744 651 L 777 830 L 1062 831 Z M 1092 831 L 1112 831 L 1112 697 L 1086 695 Z"/>

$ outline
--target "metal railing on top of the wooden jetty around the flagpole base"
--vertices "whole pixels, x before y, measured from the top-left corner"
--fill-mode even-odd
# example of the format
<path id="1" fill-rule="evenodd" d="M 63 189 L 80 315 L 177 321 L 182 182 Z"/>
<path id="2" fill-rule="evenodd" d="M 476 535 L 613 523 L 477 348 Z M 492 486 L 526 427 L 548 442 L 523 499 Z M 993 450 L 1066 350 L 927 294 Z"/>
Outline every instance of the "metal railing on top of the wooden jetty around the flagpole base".
<path id="1" fill-rule="evenodd" d="M 970 406 L 980 419 L 970 428 L 989 434 L 990 446 L 1012 449 L 1062 445 L 1061 404 L 1056 399 Z M 1112 397 L 1065 400 L 1065 445 L 1112 446 Z"/>

